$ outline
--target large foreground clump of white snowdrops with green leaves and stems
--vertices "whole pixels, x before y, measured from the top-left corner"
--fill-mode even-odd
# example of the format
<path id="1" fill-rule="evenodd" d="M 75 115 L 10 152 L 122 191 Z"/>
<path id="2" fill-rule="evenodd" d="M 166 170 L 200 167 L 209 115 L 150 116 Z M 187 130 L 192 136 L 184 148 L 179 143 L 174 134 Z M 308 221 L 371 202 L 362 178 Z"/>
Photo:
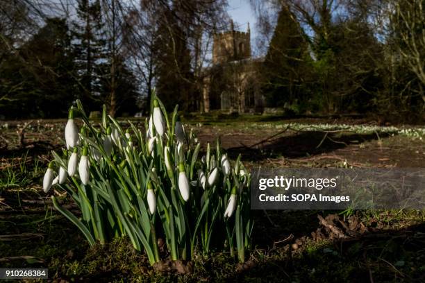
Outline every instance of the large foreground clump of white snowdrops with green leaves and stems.
<path id="1" fill-rule="evenodd" d="M 177 107 L 169 117 L 153 95 L 151 113 L 146 131 L 130 121 L 124 131 L 105 107 L 101 123 L 92 123 L 77 101 L 65 127 L 66 148 L 52 151 L 43 189 L 65 191 L 60 196 L 71 197 L 81 216 L 53 195 L 54 207 L 90 245 L 126 235 L 151 264 L 225 250 L 244 261 L 253 221 L 250 176 L 240 156 L 231 162 L 217 139 L 199 157 L 199 141 L 183 128 Z M 74 115 L 83 121 L 80 130 Z M 165 254 L 159 252 L 160 238 Z"/>

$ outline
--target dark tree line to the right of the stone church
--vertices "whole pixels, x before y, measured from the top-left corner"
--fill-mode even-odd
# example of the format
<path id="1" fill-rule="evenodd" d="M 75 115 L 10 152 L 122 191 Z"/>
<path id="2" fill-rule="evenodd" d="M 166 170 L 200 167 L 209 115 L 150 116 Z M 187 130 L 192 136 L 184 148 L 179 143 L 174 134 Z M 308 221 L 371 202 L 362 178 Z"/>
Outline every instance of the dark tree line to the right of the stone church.
<path id="1" fill-rule="evenodd" d="M 261 79 L 268 101 L 297 113 L 424 118 L 425 1 L 251 4 L 260 44 L 269 42 Z"/>

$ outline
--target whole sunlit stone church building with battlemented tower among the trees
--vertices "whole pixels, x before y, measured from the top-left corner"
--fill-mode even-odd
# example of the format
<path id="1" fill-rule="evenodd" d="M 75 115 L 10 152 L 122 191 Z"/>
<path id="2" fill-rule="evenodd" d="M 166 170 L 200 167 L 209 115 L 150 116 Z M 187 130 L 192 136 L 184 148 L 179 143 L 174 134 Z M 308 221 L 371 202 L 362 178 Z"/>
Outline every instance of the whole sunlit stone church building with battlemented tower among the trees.
<path id="1" fill-rule="evenodd" d="M 262 112 L 264 97 L 258 85 L 262 60 L 251 58 L 251 32 L 215 33 L 213 65 L 204 69 L 203 111 Z"/>

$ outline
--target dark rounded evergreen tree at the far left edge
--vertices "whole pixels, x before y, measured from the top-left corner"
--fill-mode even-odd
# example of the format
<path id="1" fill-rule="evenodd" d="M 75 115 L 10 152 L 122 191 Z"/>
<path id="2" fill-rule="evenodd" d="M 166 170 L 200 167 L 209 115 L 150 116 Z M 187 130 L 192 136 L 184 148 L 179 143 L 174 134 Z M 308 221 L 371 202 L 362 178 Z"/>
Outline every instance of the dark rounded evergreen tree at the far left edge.
<path id="1" fill-rule="evenodd" d="M 47 19 L 1 66 L 0 112 L 7 117 L 63 117 L 76 92 L 74 57 L 64 19 Z"/>

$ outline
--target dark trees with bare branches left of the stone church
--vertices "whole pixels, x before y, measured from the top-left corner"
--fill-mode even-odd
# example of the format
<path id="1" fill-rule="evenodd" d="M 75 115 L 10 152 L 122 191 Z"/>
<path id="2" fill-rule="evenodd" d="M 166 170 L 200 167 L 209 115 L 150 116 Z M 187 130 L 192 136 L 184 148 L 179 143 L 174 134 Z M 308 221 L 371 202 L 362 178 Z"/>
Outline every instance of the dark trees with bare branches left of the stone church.
<path id="1" fill-rule="evenodd" d="M 76 98 L 134 114 L 153 87 L 167 107 L 197 110 L 210 37 L 226 20 L 221 0 L 0 2 L 0 113 L 10 118 L 63 117 Z"/>

